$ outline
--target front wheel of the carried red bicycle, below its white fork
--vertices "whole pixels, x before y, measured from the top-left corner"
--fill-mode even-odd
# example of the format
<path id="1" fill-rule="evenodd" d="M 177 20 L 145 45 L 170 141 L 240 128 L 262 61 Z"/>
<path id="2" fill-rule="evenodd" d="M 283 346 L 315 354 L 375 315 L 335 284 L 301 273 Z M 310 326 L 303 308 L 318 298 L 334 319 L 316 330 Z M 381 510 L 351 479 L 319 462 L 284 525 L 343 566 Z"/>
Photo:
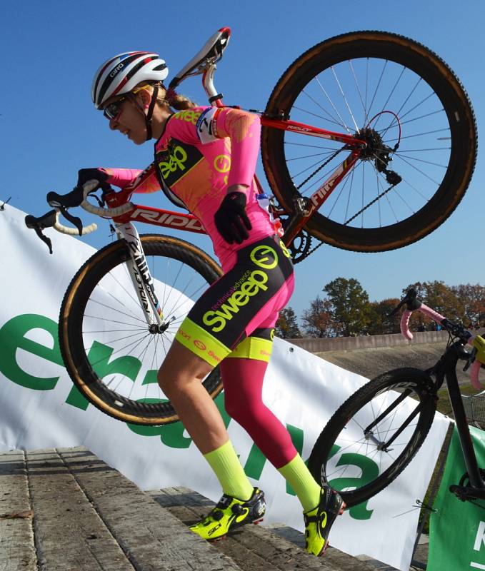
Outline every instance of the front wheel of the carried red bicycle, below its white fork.
<path id="1" fill-rule="evenodd" d="M 179 418 L 156 383 L 156 370 L 163 360 L 159 355 L 169 349 L 191 304 L 222 271 L 206 253 L 179 238 L 145 235 L 140 239 L 152 277 L 163 280 L 155 283 L 156 293 L 164 318 L 175 318 L 171 326 L 164 333 L 149 333 L 139 300 L 130 291 L 124 265 L 129 251 L 121 240 L 96 252 L 74 276 L 61 305 L 59 342 L 66 369 L 89 403 L 118 420 L 161 425 Z M 172 276 L 175 283 L 167 283 Z M 189 285 L 182 283 L 185 279 Z M 102 315 L 106 308 L 107 316 Z M 219 368 L 206 377 L 204 386 L 212 398 L 220 393 Z"/>

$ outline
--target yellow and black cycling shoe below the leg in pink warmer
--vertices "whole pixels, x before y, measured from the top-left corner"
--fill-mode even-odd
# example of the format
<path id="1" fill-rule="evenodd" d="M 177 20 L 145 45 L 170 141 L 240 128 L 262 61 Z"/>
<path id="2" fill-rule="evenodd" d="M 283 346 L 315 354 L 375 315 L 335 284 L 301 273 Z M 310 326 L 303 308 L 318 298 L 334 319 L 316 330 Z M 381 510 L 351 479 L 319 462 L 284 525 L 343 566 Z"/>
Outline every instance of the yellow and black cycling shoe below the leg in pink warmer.
<path id="1" fill-rule="evenodd" d="M 329 545 L 329 533 L 337 515 L 344 513 L 345 502 L 336 490 L 324 485 L 319 505 L 303 512 L 305 520 L 305 549 L 312 555 L 324 555 Z"/>

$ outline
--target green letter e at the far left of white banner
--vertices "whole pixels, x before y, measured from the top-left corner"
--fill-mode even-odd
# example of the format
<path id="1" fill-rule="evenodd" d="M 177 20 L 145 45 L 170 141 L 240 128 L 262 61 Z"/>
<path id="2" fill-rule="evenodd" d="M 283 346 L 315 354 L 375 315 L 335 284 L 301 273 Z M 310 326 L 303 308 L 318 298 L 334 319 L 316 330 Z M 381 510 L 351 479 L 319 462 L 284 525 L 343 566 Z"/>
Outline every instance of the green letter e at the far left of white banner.
<path id="1" fill-rule="evenodd" d="M 25 337 L 29 331 L 42 329 L 52 338 L 52 348 Z M 34 390 L 52 390 L 59 377 L 42 378 L 26 373 L 17 362 L 17 350 L 21 349 L 56 365 L 64 366 L 57 339 L 57 323 L 44 315 L 26 313 L 7 321 L 0 329 L 0 373 L 17 385 Z"/>

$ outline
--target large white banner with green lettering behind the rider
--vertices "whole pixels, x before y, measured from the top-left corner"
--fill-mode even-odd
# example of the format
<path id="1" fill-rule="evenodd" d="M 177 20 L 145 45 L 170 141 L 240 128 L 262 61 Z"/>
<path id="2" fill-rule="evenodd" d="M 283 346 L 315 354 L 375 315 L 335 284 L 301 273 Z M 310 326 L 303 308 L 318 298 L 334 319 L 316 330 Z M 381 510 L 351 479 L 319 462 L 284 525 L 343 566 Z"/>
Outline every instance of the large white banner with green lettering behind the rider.
<path id="1" fill-rule="evenodd" d="M 84 445 L 143 490 L 184 485 L 218 500 L 219 483 L 180 423 L 141 428 L 113 420 L 79 400 L 64 369 L 57 340 L 59 307 L 67 285 L 93 248 L 55 231 L 50 256 L 24 213 L 0 212 L 0 451 Z M 296 271 L 298 276 L 298 271 Z M 405 365 L 405 363 L 403 363 Z M 287 425 L 306 460 L 334 410 L 366 382 L 284 340 L 275 339 L 264 401 Z M 218 405 L 223 408 L 223 396 Z M 301 506 L 286 482 L 261 457 L 245 431 L 226 417 L 229 436 L 254 485 L 266 493 L 266 523 L 303 530 Z M 437 414 L 410 467 L 386 490 L 346 511 L 331 545 L 409 569 L 419 508 L 449 420 Z M 335 461 L 342 460 L 337 453 Z M 359 463 L 356 463 L 359 465 Z M 352 465 L 353 477 L 364 477 Z"/>

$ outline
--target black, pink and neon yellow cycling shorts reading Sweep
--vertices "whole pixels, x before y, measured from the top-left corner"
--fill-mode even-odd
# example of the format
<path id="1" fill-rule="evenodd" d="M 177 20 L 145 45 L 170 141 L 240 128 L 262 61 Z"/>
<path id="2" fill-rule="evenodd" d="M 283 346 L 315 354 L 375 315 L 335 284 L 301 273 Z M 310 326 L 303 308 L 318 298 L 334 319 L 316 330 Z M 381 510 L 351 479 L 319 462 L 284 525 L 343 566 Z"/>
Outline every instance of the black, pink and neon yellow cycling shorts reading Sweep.
<path id="1" fill-rule="evenodd" d="M 234 266 L 204 292 L 176 333 L 214 367 L 227 356 L 269 360 L 272 329 L 294 289 L 291 256 L 279 237 L 236 254 Z"/>

